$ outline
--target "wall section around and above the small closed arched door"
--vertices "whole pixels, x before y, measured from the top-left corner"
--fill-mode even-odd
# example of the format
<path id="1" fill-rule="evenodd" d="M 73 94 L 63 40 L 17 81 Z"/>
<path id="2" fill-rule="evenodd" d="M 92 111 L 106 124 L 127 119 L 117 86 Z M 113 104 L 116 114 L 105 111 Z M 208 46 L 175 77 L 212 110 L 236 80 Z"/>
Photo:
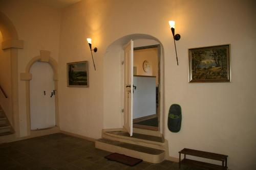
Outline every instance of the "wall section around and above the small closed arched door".
<path id="1" fill-rule="evenodd" d="M 60 11 L 32 1 L 0 1 L 0 11 L 13 23 L 24 49 L 18 51 L 18 72 L 25 72 L 28 62 L 40 55 L 40 50 L 51 52 L 58 60 Z M 32 75 L 33 76 L 33 75 Z M 27 136 L 25 81 L 18 79 L 20 136 Z"/>

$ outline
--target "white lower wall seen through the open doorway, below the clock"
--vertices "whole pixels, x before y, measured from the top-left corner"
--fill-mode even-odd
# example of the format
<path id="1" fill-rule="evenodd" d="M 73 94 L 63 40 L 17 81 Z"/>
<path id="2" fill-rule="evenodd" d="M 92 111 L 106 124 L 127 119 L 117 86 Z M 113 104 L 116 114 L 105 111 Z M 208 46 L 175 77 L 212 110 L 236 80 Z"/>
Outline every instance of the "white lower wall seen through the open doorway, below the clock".
<path id="1" fill-rule="evenodd" d="M 156 114 L 156 77 L 133 77 L 133 118 Z"/>

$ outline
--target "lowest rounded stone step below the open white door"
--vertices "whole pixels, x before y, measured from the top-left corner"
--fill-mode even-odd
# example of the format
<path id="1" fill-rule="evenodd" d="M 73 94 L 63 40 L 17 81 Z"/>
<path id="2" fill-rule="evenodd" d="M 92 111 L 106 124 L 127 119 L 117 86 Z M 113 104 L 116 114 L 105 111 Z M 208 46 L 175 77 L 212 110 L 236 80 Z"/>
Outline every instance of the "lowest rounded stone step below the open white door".
<path id="1" fill-rule="evenodd" d="M 96 140 L 95 148 L 139 158 L 151 163 L 160 163 L 165 158 L 165 151 L 163 150 L 143 147 L 137 144 L 125 143 L 105 138 Z"/>

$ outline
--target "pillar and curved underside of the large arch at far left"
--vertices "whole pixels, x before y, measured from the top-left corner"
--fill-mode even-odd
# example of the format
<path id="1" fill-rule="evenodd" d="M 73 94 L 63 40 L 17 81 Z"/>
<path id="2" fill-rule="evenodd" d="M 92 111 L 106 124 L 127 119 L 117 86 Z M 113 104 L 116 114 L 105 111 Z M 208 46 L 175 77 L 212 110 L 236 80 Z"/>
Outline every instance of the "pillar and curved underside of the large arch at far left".
<path id="1" fill-rule="evenodd" d="M 11 92 L 8 96 L 11 109 L 8 119 L 16 133 L 19 136 L 19 113 L 18 113 L 18 49 L 24 47 L 23 40 L 19 40 L 16 28 L 12 21 L 2 12 L 0 12 L 0 31 L 2 33 L 2 50 L 9 51 L 11 67 Z"/>

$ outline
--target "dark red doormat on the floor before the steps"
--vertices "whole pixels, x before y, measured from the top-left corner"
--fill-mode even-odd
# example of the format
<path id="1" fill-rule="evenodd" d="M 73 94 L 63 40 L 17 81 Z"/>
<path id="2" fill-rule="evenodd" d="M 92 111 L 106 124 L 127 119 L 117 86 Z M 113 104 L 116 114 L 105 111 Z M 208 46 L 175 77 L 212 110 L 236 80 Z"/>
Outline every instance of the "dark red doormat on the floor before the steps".
<path id="1" fill-rule="evenodd" d="M 108 156 L 105 156 L 105 158 L 108 160 L 120 162 L 120 163 L 123 163 L 125 165 L 130 165 L 130 166 L 135 166 L 138 163 L 143 161 L 142 159 L 137 159 L 137 158 L 133 158 L 133 157 L 118 154 L 118 153 L 110 154 Z"/>

